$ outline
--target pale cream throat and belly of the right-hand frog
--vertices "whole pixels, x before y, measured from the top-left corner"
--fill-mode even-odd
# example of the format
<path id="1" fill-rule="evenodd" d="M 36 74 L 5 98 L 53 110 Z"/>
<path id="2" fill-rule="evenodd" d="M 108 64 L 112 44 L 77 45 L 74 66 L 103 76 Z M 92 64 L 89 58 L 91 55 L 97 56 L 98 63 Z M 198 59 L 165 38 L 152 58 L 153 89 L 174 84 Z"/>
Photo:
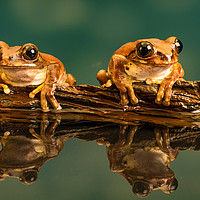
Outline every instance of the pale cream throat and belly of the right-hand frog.
<path id="1" fill-rule="evenodd" d="M 126 74 L 133 80 L 145 81 L 147 79 L 151 80 L 162 80 L 171 73 L 172 65 L 163 65 L 163 66 L 153 66 L 153 65 L 144 65 L 140 64 L 128 65 L 128 68 L 125 66 Z"/>

